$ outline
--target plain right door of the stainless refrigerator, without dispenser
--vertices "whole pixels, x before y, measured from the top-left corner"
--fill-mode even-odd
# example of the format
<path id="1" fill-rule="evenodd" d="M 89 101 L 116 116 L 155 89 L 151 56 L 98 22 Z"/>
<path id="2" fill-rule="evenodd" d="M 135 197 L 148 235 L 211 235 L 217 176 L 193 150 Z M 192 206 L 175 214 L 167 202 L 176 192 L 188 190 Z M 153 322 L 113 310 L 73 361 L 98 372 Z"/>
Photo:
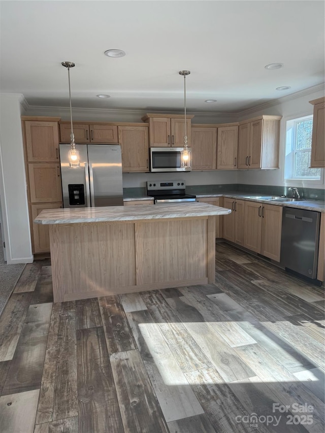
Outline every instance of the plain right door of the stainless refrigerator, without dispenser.
<path id="1" fill-rule="evenodd" d="M 90 144 L 87 147 L 91 207 L 123 206 L 121 146 Z"/>

